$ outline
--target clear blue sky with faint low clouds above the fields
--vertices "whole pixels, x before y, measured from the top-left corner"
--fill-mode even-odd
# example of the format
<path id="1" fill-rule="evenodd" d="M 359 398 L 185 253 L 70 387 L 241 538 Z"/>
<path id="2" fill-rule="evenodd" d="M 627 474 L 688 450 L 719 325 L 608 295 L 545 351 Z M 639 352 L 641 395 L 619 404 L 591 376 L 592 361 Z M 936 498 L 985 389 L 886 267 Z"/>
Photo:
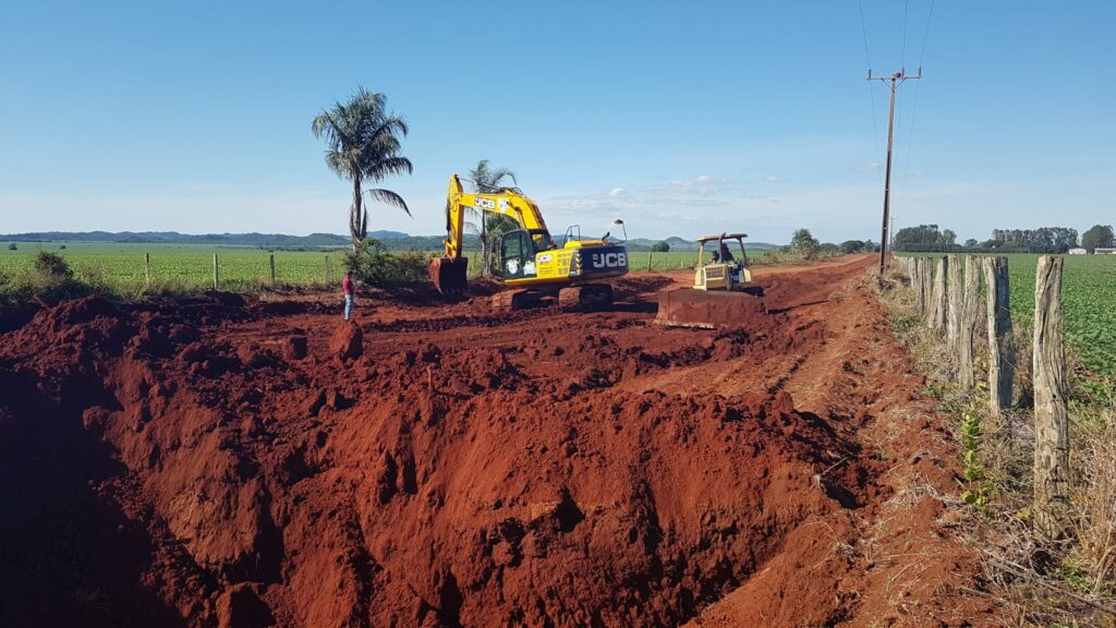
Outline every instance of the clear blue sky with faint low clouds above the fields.
<path id="1" fill-rule="evenodd" d="M 875 240 L 887 91 L 864 77 L 920 59 L 896 227 L 1116 221 L 1116 3 L 937 0 L 924 54 L 931 0 L 863 7 L 868 58 L 856 0 L 0 0 L 0 232 L 344 232 L 309 124 L 364 85 L 415 164 L 384 183 L 414 218 L 373 229 L 439 232 L 446 179 L 484 158 L 554 231 Z"/>

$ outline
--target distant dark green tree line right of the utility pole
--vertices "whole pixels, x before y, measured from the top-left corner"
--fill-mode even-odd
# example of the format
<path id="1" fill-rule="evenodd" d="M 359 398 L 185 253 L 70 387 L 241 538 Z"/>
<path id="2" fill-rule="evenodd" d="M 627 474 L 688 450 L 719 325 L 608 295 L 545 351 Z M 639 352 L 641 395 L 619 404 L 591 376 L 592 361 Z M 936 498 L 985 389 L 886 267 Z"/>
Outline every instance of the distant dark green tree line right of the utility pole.
<path id="1" fill-rule="evenodd" d="M 958 244 L 958 235 L 937 225 L 904 227 L 892 238 L 892 249 L 902 253 L 1033 253 L 1059 255 L 1081 247 L 1093 253 L 1098 247 L 1113 246 L 1113 227 L 1094 225 L 1078 237 L 1071 227 L 1039 229 L 992 229 L 992 237 L 979 241 L 970 238 Z"/>

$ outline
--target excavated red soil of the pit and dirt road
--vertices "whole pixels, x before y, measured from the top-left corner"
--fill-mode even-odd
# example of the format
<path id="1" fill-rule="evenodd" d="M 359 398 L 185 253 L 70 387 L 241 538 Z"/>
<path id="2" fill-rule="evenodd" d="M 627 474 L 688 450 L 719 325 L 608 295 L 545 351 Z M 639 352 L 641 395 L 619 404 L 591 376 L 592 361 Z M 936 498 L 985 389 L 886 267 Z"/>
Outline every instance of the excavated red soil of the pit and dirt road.
<path id="1" fill-rule="evenodd" d="M 681 275 L 42 311 L 0 336 L 0 625 L 983 625 L 870 265 L 759 273 L 728 332 L 651 324 Z"/>

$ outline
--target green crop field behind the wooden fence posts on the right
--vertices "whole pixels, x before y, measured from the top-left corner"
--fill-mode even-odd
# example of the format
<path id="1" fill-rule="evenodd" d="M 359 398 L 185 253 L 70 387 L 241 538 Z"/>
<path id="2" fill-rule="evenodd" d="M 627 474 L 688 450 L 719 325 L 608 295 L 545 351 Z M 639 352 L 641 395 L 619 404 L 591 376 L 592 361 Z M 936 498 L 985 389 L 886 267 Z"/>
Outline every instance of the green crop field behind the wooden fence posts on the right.
<path id="1" fill-rule="evenodd" d="M 1008 255 L 1011 318 L 1031 327 L 1038 255 Z M 1096 373 L 1116 378 L 1116 255 L 1067 255 L 1062 268 L 1066 342 Z"/>

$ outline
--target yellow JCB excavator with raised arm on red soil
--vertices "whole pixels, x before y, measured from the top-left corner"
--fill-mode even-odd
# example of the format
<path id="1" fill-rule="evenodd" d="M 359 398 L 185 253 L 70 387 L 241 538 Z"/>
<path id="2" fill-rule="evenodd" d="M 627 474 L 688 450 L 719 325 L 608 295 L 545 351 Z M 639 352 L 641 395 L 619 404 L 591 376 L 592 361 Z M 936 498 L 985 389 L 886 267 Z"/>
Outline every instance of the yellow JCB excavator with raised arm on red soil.
<path id="1" fill-rule="evenodd" d="M 498 310 L 521 310 L 557 297 L 566 310 L 598 310 L 613 302 L 613 286 L 602 279 L 627 274 L 627 248 L 599 239 L 580 238 L 577 226 L 566 230 L 562 245 L 555 244 L 539 207 L 518 188 L 493 188 L 465 192 L 462 179 L 450 177 L 446 190 L 445 255 L 431 259 L 429 270 L 442 294 L 463 294 L 469 286 L 469 258 L 462 256 L 465 210 L 483 216 L 490 211 L 508 216 L 520 226 L 500 240 L 500 279 L 507 289 L 492 296 Z"/>

